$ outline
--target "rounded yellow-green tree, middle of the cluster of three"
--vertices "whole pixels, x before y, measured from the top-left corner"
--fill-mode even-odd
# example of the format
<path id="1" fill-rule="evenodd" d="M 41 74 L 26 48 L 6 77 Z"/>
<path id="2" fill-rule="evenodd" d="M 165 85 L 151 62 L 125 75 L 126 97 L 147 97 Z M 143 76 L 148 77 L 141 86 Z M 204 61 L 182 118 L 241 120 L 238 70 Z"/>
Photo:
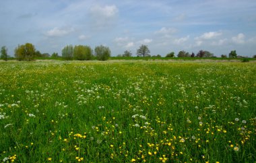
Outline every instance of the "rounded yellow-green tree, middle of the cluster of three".
<path id="1" fill-rule="evenodd" d="M 74 48 L 74 59 L 90 60 L 92 59 L 92 48 L 90 46 L 77 45 Z"/>

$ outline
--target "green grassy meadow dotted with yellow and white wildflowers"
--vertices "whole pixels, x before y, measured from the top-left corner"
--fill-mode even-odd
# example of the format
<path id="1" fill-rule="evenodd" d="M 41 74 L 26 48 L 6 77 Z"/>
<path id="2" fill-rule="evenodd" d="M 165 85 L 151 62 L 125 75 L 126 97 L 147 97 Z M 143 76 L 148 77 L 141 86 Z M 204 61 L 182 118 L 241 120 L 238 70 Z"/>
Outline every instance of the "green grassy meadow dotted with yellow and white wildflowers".
<path id="1" fill-rule="evenodd" d="M 0 62 L 0 162 L 256 162 L 256 64 Z"/>

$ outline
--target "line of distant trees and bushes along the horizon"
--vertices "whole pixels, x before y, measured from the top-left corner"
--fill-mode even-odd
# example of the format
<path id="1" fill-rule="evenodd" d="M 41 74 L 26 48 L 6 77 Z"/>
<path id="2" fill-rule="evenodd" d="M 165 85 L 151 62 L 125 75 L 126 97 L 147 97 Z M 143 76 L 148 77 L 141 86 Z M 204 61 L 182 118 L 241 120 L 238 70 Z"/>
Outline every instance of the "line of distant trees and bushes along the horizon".
<path id="1" fill-rule="evenodd" d="M 123 55 L 117 55 L 117 57 L 131 57 L 133 54 L 131 51 L 125 51 Z M 148 45 L 141 44 L 139 48 L 137 49 L 136 53 L 137 57 L 162 57 L 161 55 L 150 55 L 150 49 L 148 48 Z M 111 51 L 108 46 L 96 46 L 93 49 L 88 45 L 67 45 L 65 46 L 61 51 L 61 56 L 59 56 L 58 53 L 53 53 L 52 55 L 49 55 L 49 53 L 40 53 L 40 51 L 36 51 L 36 48 L 31 43 L 26 43 L 22 45 L 18 45 L 18 47 L 14 50 L 14 56 L 15 59 L 18 61 L 33 61 L 35 57 L 62 57 L 65 60 L 92 60 L 92 59 L 98 59 L 99 61 L 106 61 L 111 56 Z M 175 57 L 174 52 L 168 53 L 165 57 Z M 196 55 L 195 53 L 188 53 L 186 51 L 179 51 L 177 57 L 199 57 L 199 58 L 210 58 L 215 57 L 213 53 L 210 53 L 209 51 L 203 51 L 200 50 Z M 221 55 L 222 58 L 237 58 L 241 57 L 236 54 L 236 51 L 230 51 L 230 53 L 227 55 Z M 3 59 L 7 61 L 9 59 L 9 55 L 7 55 L 7 48 L 6 46 L 1 47 L 1 56 L 0 59 Z M 253 56 L 253 58 L 256 58 L 256 55 Z"/>

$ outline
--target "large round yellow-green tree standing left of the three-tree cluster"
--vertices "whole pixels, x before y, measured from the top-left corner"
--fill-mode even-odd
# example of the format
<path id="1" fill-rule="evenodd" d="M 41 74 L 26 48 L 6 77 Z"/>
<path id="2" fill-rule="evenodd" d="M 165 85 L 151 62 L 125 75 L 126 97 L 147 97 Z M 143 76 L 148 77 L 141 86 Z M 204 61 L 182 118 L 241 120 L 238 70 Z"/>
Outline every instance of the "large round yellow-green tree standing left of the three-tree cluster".
<path id="1" fill-rule="evenodd" d="M 15 48 L 15 57 L 19 60 L 32 61 L 36 54 L 36 48 L 31 43 L 18 45 Z"/>

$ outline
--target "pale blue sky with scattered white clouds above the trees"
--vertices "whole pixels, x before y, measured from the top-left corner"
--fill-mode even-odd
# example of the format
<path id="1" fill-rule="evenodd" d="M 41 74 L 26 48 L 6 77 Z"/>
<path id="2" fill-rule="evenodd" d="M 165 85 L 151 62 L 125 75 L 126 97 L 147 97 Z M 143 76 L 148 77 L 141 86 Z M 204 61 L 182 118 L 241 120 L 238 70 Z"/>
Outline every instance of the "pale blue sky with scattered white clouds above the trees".
<path id="1" fill-rule="evenodd" d="M 0 20 L 0 46 L 10 56 L 26 42 L 59 55 L 67 44 L 102 44 L 112 56 L 136 56 L 141 44 L 162 57 L 256 55 L 255 0 L 1 0 Z"/>

